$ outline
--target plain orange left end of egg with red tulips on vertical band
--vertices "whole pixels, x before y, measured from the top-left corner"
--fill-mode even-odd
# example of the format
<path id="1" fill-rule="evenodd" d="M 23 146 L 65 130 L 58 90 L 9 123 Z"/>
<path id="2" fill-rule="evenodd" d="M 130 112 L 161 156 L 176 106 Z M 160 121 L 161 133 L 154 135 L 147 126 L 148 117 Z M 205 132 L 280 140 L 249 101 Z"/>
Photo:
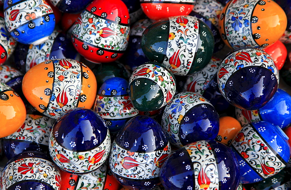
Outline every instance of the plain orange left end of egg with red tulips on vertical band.
<path id="1" fill-rule="evenodd" d="M 22 81 L 22 92 L 25 98 L 40 113 L 43 110 L 38 105 L 47 106 L 50 101 L 50 96 L 45 95 L 45 89 L 53 87 L 54 77 L 48 77 L 48 72 L 54 72 L 53 63 L 40 63 L 26 72 Z"/>

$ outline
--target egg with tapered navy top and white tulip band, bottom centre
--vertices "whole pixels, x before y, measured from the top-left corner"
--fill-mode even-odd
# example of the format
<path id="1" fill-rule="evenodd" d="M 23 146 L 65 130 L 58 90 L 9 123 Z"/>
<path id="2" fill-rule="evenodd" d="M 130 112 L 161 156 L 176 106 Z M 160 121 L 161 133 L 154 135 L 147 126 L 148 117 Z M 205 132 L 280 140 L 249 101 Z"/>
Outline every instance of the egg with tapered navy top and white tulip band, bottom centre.
<path id="1" fill-rule="evenodd" d="M 113 141 L 109 166 L 124 187 L 149 190 L 159 183 L 159 170 L 169 154 L 162 127 L 148 116 L 136 116 Z"/>

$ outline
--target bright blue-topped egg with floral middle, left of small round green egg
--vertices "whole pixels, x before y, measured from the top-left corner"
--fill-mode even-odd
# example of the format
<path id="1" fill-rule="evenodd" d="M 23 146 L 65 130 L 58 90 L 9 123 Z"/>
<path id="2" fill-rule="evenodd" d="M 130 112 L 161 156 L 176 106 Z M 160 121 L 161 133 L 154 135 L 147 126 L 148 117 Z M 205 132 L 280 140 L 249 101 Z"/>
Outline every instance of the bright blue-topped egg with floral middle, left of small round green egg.
<path id="1" fill-rule="evenodd" d="M 107 79 L 100 87 L 93 107 L 105 121 L 110 133 L 118 133 L 139 111 L 129 99 L 128 82 L 124 78 Z"/>

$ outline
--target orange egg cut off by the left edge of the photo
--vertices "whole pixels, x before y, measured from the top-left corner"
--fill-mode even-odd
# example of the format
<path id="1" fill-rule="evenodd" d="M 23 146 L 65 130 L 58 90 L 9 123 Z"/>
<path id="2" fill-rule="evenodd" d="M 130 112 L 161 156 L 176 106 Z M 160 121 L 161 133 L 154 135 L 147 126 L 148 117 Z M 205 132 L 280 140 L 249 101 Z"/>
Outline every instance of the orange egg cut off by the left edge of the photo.
<path id="1" fill-rule="evenodd" d="M 18 94 L 5 83 L 0 83 L 0 138 L 17 131 L 26 118 L 26 109 Z"/>

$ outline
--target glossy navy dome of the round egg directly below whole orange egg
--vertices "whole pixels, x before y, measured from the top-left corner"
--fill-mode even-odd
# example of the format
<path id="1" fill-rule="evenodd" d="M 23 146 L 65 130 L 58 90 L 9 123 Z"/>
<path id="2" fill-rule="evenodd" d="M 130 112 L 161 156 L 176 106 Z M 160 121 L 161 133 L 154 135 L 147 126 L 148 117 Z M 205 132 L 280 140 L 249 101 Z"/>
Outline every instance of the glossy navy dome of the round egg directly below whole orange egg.
<path id="1" fill-rule="evenodd" d="M 54 123 L 52 133 L 62 147 L 80 152 L 98 147 L 106 138 L 107 129 L 102 117 L 93 110 L 74 108 Z M 72 146 L 72 142 L 76 145 Z"/>

